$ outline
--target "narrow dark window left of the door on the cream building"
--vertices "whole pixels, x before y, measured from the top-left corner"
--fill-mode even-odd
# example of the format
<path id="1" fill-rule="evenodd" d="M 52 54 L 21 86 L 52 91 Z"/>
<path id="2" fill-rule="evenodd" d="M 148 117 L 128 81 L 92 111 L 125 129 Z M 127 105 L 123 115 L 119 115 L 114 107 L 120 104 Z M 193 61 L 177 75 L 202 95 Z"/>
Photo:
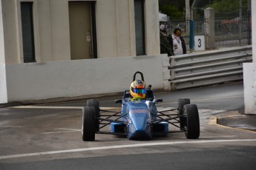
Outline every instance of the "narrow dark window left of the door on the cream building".
<path id="1" fill-rule="evenodd" d="M 24 63 L 36 62 L 33 33 L 33 2 L 21 2 Z"/>

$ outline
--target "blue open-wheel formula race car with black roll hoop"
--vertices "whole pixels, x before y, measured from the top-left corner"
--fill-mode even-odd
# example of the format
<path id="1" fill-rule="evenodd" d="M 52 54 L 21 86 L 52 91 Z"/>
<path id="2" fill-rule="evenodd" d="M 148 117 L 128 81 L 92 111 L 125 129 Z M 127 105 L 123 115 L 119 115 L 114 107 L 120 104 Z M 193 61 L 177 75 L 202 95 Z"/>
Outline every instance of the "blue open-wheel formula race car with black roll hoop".
<path id="1" fill-rule="evenodd" d="M 142 72 L 135 72 L 133 80 L 137 74 L 144 81 Z M 125 90 L 122 99 L 115 101 L 122 104 L 119 111 L 102 109 L 98 100 L 88 100 L 82 110 L 82 140 L 93 141 L 95 134 L 125 135 L 130 140 L 150 140 L 175 132 L 185 132 L 188 139 L 200 136 L 197 105 L 191 104 L 190 99 L 180 98 L 177 108 L 158 111 L 156 104 L 163 100 L 154 97 L 151 86 L 145 89 L 145 98 L 132 99 L 131 90 Z M 169 125 L 176 130 L 170 130 Z"/>

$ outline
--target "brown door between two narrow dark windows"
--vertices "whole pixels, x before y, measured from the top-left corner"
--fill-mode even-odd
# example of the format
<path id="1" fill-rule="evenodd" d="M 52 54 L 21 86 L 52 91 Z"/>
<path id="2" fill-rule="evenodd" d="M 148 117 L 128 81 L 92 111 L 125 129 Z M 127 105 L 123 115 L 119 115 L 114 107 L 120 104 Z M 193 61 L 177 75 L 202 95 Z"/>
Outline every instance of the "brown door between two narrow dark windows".
<path id="1" fill-rule="evenodd" d="M 68 4 L 71 60 L 93 58 L 91 4 Z"/>

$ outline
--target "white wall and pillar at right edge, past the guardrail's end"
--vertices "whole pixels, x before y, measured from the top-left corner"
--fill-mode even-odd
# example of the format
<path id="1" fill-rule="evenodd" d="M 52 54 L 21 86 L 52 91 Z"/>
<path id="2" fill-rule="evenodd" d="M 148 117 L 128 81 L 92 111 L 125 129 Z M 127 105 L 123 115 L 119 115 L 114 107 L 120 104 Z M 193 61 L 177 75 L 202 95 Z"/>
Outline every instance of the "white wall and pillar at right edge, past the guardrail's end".
<path id="1" fill-rule="evenodd" d="M 256 115 L 256 1 L 252 1 L 252 63 L 243 64 L 243 88 L 246 114 Z"/>

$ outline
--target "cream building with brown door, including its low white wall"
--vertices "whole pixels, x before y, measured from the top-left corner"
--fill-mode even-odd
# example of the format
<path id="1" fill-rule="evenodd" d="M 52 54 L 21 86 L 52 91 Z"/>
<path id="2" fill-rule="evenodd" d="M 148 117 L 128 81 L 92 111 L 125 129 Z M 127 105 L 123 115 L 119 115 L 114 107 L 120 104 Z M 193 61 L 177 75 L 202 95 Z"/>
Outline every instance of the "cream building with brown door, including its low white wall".
<path id="1" fill-rule="evenodd" d="M 163 89 L 159 37 L 158 0 L 0 0 L 0 103 Z"/>

